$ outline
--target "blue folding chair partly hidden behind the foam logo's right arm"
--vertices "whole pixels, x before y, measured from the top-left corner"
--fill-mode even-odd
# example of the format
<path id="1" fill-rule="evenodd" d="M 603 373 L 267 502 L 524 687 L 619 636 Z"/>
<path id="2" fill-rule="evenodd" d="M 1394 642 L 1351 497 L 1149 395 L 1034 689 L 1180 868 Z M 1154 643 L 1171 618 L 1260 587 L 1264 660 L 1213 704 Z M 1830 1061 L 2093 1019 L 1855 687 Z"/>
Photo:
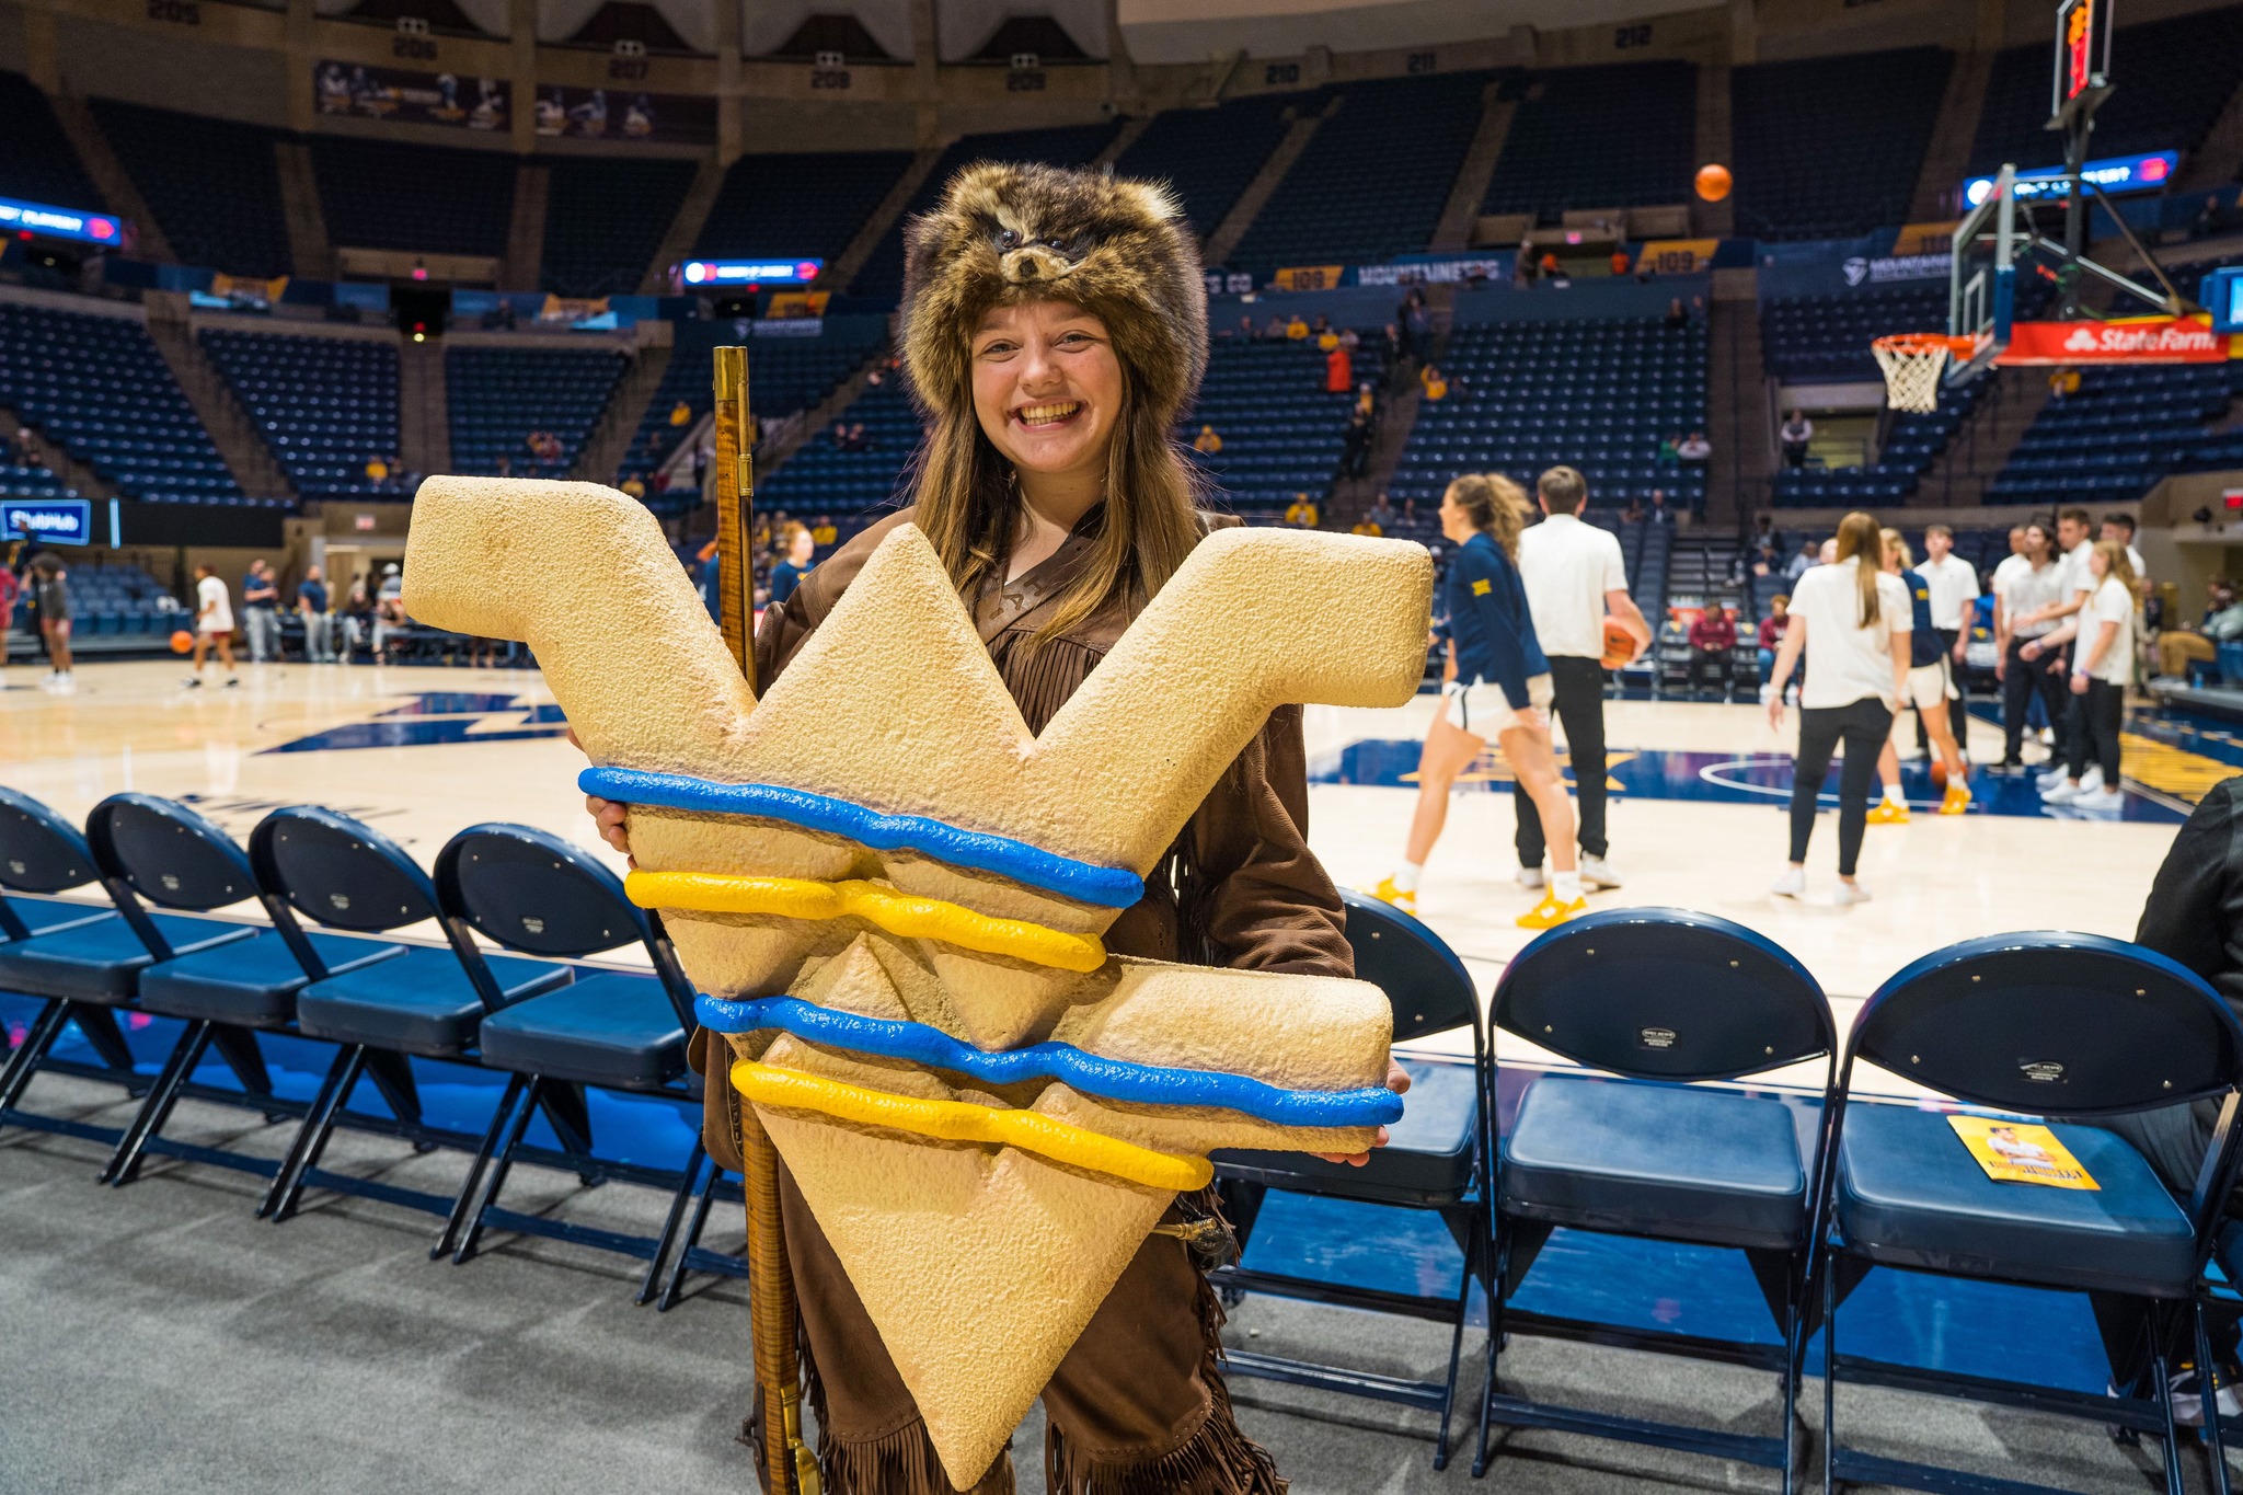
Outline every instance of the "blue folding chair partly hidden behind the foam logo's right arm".
<path id="1" fill-rule="evenodd" d="M 1449 1374 L 1442 1381 L 1409 1381 L 1247 1349 L 1227 1352 L 1225 1363 L 1238 1376 L 1438 1412 L 1433 1468 L 1444 1468 L 1456 1369 L 1465 1347 L 1465 1309 L 1471 1284 L 1487 1287 L 1487 1096 L 1494 1092 L 1487 1036 L 1480 1029 L 1480 995 L 1465 962 L 1456 959 L 1456 950 L 1440 935 L 1391 903 L 1357 892 L 1339 897 L 1346 901 L 1355 975 L 1386 993 L 1393 1004 L 1395 1042 L 1469 1029 L 1471 1062 L 1404 1058 L 1402 1067 L 1411 1076 L 1406 1109 L 1402 1121 L 1388 1127 L 1388 1143 L 1373 1150 L 1364 1168 L 1326 1163 L 1305 1152 L 1216 1152 L 1222 1213 L 1231 1222 L 1243 1257 L 1272 1188 L 1319 1199 L 1433 1210 L 1465 1253 L 1465 1271 L 1453 1296 L 1326 1282 L 1243 1264 L 1222 1266 L 1211 1280 L 1229 1296 L 1270 1293 L 1449 1325 Z"/>

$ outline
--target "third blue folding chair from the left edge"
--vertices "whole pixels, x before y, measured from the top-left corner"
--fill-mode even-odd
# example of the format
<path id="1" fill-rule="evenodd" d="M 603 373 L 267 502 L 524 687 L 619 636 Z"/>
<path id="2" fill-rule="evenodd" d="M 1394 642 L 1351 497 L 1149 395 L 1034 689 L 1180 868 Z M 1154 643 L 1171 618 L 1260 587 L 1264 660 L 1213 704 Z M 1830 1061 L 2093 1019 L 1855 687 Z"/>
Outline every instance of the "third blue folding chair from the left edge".
<path id="1" fill-rule="evenodd" d="M 574 971 L 514 955 L 478 955 L 462 964 L 455 948 L 422 944 L 397 946 L 395 957 L 372 966 L 334 971 L 305 939 L 296 914 L 359 935 L 386 935 L 442 912 L 435 883 L 404 847 L 332 809 L 292 805 L 265 816 L 249 832 L 249 865 L 265 890 L 274 928 L 305 973 L 296 991 L 296 1031 L 339 1044 L 258 1213 L 287 1219 L 305 1186 L 314 1183 L 451 1215 L 460 1204 L 455 1195 L 321 1172 L 327 1139 L 336 1125 L 350 1125 L 406 1136 L 415 1148 L 480 1152 L 476 1136 L 426 1125 L 410 1058 L 473 1065 L 487 1013 L 567 986 Z M 375 1080 L 390 1112 L 386 1118 L 348 1109 L 361 1078 Z"/>

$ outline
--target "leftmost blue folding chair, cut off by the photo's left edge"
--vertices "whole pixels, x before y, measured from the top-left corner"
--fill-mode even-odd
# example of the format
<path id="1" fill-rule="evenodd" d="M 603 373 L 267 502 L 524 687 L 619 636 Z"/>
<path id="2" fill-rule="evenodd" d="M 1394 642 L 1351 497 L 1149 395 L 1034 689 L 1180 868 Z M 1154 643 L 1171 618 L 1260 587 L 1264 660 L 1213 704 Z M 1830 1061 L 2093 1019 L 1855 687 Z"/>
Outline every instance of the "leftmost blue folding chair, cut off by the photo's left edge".
<path id="1" fill-rule="evenodd" d="M 117 1127 L 16 1109 L 38 1071 L 101 1078 L 148 1092 L 135 1071 L 132 1049 L 117 1027 L 117 1009 L 132 1006 L 141 973 L 159 959 L 213 950 L 256 935 L 244 923 L 150 914 L 130 888 L 105 876 L 92 847 L 67 820 L 27 793 L 0 789 L 0 888 L 54 894 L 99 881 L 117 912 L 85 903 L 9 899 L 0 941 L 0 988 L 45 997 L 25 1040 L 0 1069 L 0 1123 L 61 1132 L 114 1145 Z M 67 910 L 67 912 L 65 912 Z M 54 1058 L 54 1044 L 76 1022 L 101 1065 Z"/>

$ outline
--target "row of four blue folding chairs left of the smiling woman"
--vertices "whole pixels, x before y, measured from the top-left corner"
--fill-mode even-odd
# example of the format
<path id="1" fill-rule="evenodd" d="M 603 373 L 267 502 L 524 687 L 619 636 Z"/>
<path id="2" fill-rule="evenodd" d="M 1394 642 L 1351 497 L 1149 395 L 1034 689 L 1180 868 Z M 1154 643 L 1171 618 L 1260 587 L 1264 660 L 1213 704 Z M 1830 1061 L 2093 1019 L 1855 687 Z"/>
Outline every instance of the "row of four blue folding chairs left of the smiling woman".
<path id="1" fill-rule="evenodd" d="M 56 897 L 92 885 L 108 908 Z M 40 1000 L 0 1067 L 0 1127 L 108 1145 L 105 1183 L 130 1183 L 148 1154 L 168 1154 L 265 1177 L 258 1215 L 274 1222 L 294 1215 L 307 1188 L 363 1195 L 440 1215 L 431 1255 L 453 1262 L 473 1257 L 489 1228 L 559 1237 L 641 1257 L 639 1302 L 659 1296 L 662 1307 L 689 1262 L 742 1271 L 738 1257 L 698 1246 L 711 1199 L 738 1188 L 698 1141 L 700 1076 L 686 1065 L 693 986 L 662 926 L 581 847 L 525 825 L 476 825 L 444 845 L 431 876 L 395 841 L 330 809 L 276 809 L 242 847 L 186 805 L 146 793 L 101 800 L 81 834 L 0 789 L 0 991 Z M 249 899 L 269 923 L 211 912 Z M 386 937 L 431 919 L 444 944 Z M 626 946 L 644 950 L 650 971 L 579 964 Z M 141 1015 L 182 1024 L 153 1076 L 135 1065 L 119 1022 Z M 92 1060 L 56 1053 L 72 1027 Z M 332 1044 L 310 1101 L 276 1089 L 260 1047 L 274 1036 Z M 211 1053 L 236 1085 L 197 1080 Z M 415 1060 L 507 1074 L 480 1136 L 424 1118 Z M 34 1112 L 25 1092 L 43 1071 L 121 1085 L 139 1105 L 121 1130 Z M 368 1087 L 377 1109 L 352 1105 Z M 695 1134 L 689 1154 L 655 1166 L 603 1152 L 588 1089 L 675 1103 Z M 182 1098 L 262 1112 L 294 1125 L 294 1136 L 278 1159 L 166 1136 Z M 532 1145 L 538 1116 L 556 1145 Z M 336 1127 L 471 1161 L 453 1192 L 325 1170 Z M 662 1231 L 509 1210 L 502 1190 L 516 1163 L 561 1168 L 585 1186 L 664 1188 Z"/>

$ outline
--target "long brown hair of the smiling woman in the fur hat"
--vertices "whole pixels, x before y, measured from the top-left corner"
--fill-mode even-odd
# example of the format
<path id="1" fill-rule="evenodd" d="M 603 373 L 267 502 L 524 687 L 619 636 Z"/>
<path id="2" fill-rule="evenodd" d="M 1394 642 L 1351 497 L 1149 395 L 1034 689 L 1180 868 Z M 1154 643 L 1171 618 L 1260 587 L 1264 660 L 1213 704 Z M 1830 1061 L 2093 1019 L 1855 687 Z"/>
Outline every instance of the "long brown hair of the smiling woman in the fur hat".
<path id="1" fill-rule="evenodd" d="M 1119 359 L 1119 345 L 1115 352 Z M 1137 397 L 1137 379 L 1122 361 L 1122 410 L 1106 448 L 1106 511 L 1090 554 L 1032 643 L 1056 639 L 1108 605 L 1144 607 L 1200 542 L 1196 468 L 1153 403 Z M 1021 527 L 1018 477 L 982 435 L 971 397 L 931 412 L 915 468 L 911 518 L 971 603 L 989 576 L 1000 574 Z"/>

